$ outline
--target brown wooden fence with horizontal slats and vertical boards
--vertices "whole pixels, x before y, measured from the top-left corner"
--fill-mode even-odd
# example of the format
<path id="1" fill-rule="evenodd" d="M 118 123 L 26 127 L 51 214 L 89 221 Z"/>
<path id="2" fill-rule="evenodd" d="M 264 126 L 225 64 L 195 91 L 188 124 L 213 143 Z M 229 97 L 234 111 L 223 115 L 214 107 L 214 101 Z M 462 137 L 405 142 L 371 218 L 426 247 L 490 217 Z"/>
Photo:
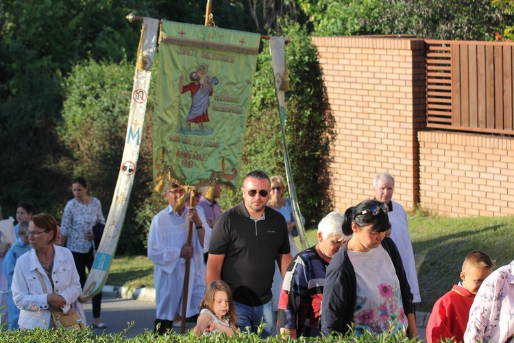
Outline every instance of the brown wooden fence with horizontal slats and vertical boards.
<path id="1" fill-rule="evenodd" d="M 514 44 L 425 42 L 427 127 L 514 134 Z"/>

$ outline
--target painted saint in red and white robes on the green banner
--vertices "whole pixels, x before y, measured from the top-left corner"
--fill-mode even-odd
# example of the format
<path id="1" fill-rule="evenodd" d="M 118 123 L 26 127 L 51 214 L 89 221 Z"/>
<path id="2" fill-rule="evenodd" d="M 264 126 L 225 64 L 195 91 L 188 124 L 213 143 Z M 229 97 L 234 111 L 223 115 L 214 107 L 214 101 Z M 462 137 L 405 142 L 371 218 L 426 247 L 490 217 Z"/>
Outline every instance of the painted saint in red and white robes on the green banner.
<path id="1" fill-rule="evenodd" d="M 205 71 L 205 67 L 203 70 Z M 189 78 L 191 82 L 184 86 L 184 75 L 180 75 L 180 94 L 191 91 L 191 108 L 189 109 L 188 116 L 186 118 L 187 130 L 191 130 L 191 123 L 197 123 L 200 130 L 204 130 L 204 123 L 209 121 L 208 107 L 210 105 L 209 97 L 212 96 L 214 90 L 212 89 L 213 84 L 218 84 L 218 78 L 210 78 L 207 73 L 204 73 L 202 80 L 201 68 L 197 71 L 193 71 Z"/>

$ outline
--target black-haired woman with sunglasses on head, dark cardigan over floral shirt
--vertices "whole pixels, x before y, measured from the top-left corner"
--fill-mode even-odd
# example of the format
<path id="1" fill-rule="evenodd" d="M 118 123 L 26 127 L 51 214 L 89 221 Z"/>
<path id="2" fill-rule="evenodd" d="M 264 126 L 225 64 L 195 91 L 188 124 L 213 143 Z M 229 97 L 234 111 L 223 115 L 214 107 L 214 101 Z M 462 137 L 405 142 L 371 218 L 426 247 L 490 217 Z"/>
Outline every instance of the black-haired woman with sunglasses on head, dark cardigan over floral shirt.
<path id="1" fill-rule="evenodd" d="M 334 255 L 327 268 L 321 333 L 345 334 L 350 327 L 362 335 L 407 329 L 409 338 L 417 335 L 402 259 L 392 239 L 385 237 L 389 228 L 387 204 L 365 200 L 346 210 L 343 233 L 353 234 Z"/>

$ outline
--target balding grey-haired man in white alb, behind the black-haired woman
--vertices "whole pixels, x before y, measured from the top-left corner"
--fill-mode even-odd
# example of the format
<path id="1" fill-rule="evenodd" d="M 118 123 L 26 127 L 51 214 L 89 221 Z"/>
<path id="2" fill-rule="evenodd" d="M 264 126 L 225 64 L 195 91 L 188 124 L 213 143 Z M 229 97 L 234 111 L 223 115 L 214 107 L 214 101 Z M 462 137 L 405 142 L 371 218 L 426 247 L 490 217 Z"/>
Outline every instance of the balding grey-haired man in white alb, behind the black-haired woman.
<path id="1" fill-rule="evenodd" d="M 408 284 L 411 285 L 411 292 L 414 296 L 413 303 L 420 303 L 421 296 L 419 296 L 413 244 L 411 235 L 408 233 L 407 213 L 402 205 L 391 200 L 395 189 L 395 179 L 387 172 L 380 173 L 373 179 L 373 189 L 376 200 L 385 202 L 389 206 L 387 215 L 391 222 L 391 239 L 395 242 L 402 257 Z"/>

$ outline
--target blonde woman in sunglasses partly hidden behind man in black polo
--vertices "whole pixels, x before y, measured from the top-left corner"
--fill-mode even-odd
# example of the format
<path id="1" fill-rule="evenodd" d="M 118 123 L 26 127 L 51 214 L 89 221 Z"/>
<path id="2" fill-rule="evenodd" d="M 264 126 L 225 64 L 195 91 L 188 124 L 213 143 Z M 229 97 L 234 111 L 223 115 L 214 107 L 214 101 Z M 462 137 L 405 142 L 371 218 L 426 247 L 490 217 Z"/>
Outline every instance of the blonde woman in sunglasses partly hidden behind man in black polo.
<path id="1" fill-rule="evenodd" d="M 289 233 L 289 245 L 291 246 L 291 256 L 295 257 L 298 253 L 298 248 L 293 239 L 293 233 L 298 235 L 296 230 L 296 223 L 293 218 L 293 208 L 291 206 L 291 199 L 285 198 L 284 193 L 286 192 L 286 183 L 284 178 L 280 175 L 271 176 L 269 178 L 271 182 L 271 189 L 269 191 L 269 200 L 267 206 L 280 212 L 284 216 L 287 223 L 287 232 Z M 305 222 L 305 219 L 302 217 Z M 276 264 L 276 263 L 275 263 Z M 273 309 L 278 311 L 278 299 L 280 298 L 280 289 L 282 289 L 282 274 L 278 264 L 275 265 L 275 274 L 273 275 Z"/>

